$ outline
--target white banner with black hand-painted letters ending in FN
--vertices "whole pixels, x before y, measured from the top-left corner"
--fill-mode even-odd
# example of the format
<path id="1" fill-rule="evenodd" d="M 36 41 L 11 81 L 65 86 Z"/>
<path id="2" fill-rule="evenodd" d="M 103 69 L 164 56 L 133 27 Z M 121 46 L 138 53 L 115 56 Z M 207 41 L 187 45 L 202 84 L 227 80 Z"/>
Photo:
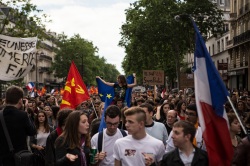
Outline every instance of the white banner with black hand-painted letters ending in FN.
<path id="1" fill-rule="evenodd" d="M 0 35 L 0 80 L 26 76 L 36 60 L 37 37 L 16 38 Z"/>

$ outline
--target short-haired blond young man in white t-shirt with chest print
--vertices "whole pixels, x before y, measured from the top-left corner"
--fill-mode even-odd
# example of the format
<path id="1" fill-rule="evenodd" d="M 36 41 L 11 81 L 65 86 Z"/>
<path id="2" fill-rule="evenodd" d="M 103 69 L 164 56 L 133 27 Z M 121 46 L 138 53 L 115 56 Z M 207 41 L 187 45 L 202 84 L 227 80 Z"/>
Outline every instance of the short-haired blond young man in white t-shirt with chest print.
<path id="1" fill-rule="evenodd" d="M 162 141 L 145 131 L 146 114 L 140 107 L 125 111 L 127 137 L 120 138 L 114 145 L 115 166 L 159 165 L 164 155 Z"/>

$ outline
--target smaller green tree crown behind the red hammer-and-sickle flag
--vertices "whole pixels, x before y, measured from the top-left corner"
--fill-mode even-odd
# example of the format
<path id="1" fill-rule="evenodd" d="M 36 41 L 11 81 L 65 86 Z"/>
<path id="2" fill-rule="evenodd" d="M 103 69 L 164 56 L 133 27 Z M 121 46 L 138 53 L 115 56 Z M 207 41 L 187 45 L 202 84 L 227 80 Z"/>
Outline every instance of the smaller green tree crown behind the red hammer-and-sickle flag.
<path id="1" fill-rule="evenodd" d="M 52 64 L 56 77 L 66 78 L 71 61 L 74 61 L 87 85 L 96 84 L 96 76 L 103 76 L 107 80 L 116 80 L 119 74 L 116 67 L 106 63 L 106 59 L 103 57 L 96 55 L 98 48 L 94 47 L 92 42 L 81 38 L 79 34 L 71 38 L 65 34 L 60 35 L 57 46 L 55 61 Z"/>

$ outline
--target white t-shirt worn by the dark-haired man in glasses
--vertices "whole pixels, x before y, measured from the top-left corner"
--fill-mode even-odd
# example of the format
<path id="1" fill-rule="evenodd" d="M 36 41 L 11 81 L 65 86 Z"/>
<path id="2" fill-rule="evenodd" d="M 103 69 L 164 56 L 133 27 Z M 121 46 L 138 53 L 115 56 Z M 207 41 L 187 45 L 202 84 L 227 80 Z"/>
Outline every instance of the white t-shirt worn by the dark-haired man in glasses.
<path id="1" fill-rule="evenodd" d="M 103 137 L 104 137 L 104 145 L 102 145 L 104 152 L 106 152 L 107 156 L 100 162 L 100 166 L 113 166 L 114 165 L 114 157 L 113 157 L 113 148 L 114 148 L 114 143 L 117 139 L 123 138 L 122 133 L 120 132 L 119 129 L 117 129 L 117 132 L 115 135 L 109 136 L 107 135 L 105 129 L 103 131 Z M 127 132 L 127 131 L 125 131 Z M 96 133 L 92 138 L 91 138 L 91 146 L 95 146 L 96 149 L 98 149 L 98 136 L 99 133 Z"/>

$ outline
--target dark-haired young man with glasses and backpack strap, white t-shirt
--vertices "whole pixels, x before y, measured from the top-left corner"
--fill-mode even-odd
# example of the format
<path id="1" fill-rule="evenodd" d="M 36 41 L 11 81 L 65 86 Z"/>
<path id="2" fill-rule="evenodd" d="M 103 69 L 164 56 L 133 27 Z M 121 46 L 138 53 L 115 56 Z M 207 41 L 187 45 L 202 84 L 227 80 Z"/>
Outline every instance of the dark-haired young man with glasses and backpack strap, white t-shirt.
<path id="1" fill-rule="evenodd" d="M 107 108 L 105 112 L 105 122 L 107 128 L 103 130 L 102 134 L 96 133 L 91 138 L 91 146 L 95 146 L 97 149 L 101 149 L 100 152 L 96 154 L 96 159 L 98 160 L 96 164 L 98 166 L 111 166 L 114 165 L 113 157 L 113 147 L 114 142 L 127 135 L 125 131 L 119 130 L 118 125 L 121 119 L 121 111 L 115 106 L 111 105 Z M 101 137 L 99 136 L 101 134 Z M 101 140 L 98 140 L 101 139 Z M 101 141 L 101 146 L 98 142 Z"/>

